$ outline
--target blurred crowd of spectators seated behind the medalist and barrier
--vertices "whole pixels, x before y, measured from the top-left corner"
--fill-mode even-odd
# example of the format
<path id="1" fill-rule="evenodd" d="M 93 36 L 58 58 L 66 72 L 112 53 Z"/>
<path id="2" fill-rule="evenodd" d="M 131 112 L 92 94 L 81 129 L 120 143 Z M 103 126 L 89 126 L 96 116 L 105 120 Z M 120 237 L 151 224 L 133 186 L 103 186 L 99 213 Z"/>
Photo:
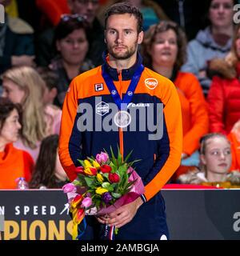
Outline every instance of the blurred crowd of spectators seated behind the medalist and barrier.
<path id="1" fill-rule="evenodd" d="M 0 0 L 0 189 L 67 182 L 58 159 L 71 80 L 102 64 L 115 0 Z M 182 106 L 182 162 L 170 183 L 240 186 L 240 26 L 234 0 L 129 0 L 142 11 L 146 67 Z"/>

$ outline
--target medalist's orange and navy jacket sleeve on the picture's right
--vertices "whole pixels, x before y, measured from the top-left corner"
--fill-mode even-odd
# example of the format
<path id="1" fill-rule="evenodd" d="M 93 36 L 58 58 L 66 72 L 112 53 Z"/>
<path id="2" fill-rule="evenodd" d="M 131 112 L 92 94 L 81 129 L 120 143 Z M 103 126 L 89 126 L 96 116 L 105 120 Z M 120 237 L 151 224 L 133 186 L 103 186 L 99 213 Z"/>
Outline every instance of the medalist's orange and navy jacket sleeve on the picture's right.
<path id="1" fill-rule="evenodd" d="M 182 110 L 178 92 L 172 82 L 163 86 L 163 135 L 158 141 L 158 157 L 144 183 L 146 201 L 153 198 L 170 179 L 181 162 L 182 154 Z"/>

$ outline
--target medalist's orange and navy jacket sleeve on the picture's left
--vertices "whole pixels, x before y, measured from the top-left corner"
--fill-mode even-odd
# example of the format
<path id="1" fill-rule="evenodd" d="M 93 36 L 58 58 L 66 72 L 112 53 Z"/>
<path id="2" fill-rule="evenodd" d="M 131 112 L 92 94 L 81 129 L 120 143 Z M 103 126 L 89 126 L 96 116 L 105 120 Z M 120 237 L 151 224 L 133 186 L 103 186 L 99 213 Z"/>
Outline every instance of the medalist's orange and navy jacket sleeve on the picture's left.
<path id="1" fill-rule="evenodd" d="M 78 91 L 75 79 L 70 83 L 66 98 L 62 107 L 62 120 L 58 145 L 58 154 L 62 167 L 73 181 L 77 177 L 75 166 L 81 155 L 81 132 L 77 128 L 78 123 Z"/>

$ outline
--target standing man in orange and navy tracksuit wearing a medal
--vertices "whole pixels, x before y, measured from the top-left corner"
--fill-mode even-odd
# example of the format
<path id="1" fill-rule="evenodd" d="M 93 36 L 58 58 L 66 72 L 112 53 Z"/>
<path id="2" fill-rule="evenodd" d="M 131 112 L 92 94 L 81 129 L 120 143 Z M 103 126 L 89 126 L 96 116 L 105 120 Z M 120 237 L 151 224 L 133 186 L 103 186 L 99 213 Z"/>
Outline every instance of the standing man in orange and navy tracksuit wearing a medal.
<path id="1" fill-rule="evenodd" d="M 116 235 L 119 240 L 168 238 L 160 190 L 181 160 L 182 114 L 178 94 L 169 79 L 142 66 L 138 54 L 143 38 L 142 14 L 136 7 L 126 3 L 110 6 L 105 25 L 105 62 L 74 78 L 66 94 L 59 156 L 73 180 L 77 159 L 95 156 L 103 149 L 109 152 L 110 146 L 116 154 L 119 145 L 123 158 L 133 150 L 130 161 L 142 160 L 135 167 L 145 193 L 107 218 L 87 216 L 82 239 L 98 239 L 100 223 L 121 227 Z M 142 129 L 142 123 L 149 124 L 149 119 L 157 122 L 156 133 L 152 126 Z"/>

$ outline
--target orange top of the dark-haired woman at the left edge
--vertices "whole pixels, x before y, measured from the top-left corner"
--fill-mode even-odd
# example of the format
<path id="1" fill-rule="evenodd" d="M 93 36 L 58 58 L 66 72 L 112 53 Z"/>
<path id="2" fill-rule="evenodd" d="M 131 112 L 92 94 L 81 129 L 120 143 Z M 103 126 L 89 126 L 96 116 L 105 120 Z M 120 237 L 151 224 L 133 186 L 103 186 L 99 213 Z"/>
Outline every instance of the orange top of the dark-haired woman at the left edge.
<path id="1" fill-rule="evenodd" d="M 0 152 L 0 189 L 15 189 L 16 178 L 24 177 L 29 182 L 34 162 L 26 151 L 16 149 L 12 143 Z"/>

